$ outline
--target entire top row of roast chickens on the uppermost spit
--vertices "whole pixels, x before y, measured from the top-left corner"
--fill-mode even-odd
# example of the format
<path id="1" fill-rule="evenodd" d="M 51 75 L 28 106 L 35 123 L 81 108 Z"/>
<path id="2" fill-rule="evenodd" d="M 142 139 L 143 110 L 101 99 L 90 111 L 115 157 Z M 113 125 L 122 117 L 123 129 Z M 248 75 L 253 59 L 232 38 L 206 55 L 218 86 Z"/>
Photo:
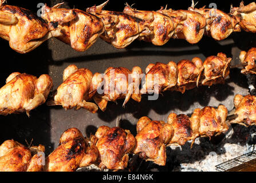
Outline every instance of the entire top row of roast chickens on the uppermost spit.
<path id="1" fill-rule="evenodd" d="M 27 53 L 51 37 L 85 51 L 98 37 L 116 48 L 124 48 L 135 39 L 164 45 L 170 38 L 198 43 L 206 34 L 223 40 L 233 31 L 256 32 L 256 4 L 231 7 L 230 13 L 218 9 L 164 9 L 140 11 L 126 5 L 123 12 L 103 10 L 107 2 L 86 11 L 42 7 L 41 17 L 29 10 L 3 4 L 0 0 L 0 37 L 19 53 Z"/>

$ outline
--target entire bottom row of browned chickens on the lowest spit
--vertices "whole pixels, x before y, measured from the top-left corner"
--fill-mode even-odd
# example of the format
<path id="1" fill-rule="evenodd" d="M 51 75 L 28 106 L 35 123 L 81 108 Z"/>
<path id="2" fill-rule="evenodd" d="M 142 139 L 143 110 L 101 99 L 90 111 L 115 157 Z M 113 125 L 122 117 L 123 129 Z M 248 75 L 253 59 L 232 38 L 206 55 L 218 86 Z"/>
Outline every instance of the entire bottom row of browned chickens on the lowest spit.
<path id="1" fill-rule="evenodd" d="M 206 106 L 195 109 L 191 117 L 171 113 L 167 123 L 141 117 L 134 137 L 129 130 L 100 126 L 94 135 L 85 138 L 80 130 L 70 128 L 61 138 L 59 146 L 44 158 L 44 145 L 26 147 L 14 140 L 0 146 L 0 171 L 75 171 L 96 165 L 101 169 L 127 169 L 128 154 L 138 154 L 157 165 L 166 164 L 166 146 L 184 145 L 198 137 L 212 137 L 227 132 L 230 124 L 255 125 L 256 97 L 234 98 L 235 112 L 227 120 L 227 108 Z M 235 117 L 234 117 L 235 116 Z"/>

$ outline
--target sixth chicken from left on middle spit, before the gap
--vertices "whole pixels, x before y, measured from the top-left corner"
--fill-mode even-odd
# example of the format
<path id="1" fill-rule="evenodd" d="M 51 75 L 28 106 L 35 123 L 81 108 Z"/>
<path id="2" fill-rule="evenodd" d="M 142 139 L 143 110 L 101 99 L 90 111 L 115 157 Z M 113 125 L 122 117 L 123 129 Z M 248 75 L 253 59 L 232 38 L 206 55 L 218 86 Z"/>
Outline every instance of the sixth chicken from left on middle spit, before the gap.
<path id="1" fill-rule="evenodd" d="M 211 86 L 216 83 L 224 83 L 229 75 L 230 62 L 232 58 L 227 58 L 226 54 L 218 53 L 217 56 L 207 57 L 203 62 L 196 85 Z"/>

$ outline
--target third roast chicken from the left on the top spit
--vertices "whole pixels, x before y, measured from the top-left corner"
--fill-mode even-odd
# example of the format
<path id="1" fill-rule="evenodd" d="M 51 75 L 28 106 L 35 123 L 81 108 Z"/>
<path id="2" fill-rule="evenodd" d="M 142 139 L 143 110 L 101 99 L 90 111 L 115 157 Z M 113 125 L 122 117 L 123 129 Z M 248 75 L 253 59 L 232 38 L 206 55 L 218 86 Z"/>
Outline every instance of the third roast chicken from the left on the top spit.
<path id="1" fill-rule="evenodd" d="M 86 11 L 96 15 L 103 21 L 105 32 L 100 37 L 116 48 L 121 49 L 139 37 L 140 31 L 144 29 L 143 23 L 141 19 L 125 13 L 102 10 L 107 2 L 99 6 L 89 7 Z"/>

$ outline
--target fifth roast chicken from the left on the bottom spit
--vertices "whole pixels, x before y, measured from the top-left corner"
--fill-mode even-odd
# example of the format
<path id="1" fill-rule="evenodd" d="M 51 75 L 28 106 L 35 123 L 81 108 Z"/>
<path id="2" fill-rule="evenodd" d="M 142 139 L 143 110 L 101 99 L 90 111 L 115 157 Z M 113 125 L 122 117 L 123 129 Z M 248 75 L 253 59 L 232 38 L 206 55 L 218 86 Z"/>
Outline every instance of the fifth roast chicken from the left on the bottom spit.
<path id="1" fill-rule="evenodd" d="M 187 141 L 193 140 L 199 136 L 198 133 L 198 122 L 191 121 L 190 118 L 185 114 L 171 113 L 167 119 L 168 124 L 174 129 L 174 135 L 169 142 L 171 144 L 184 145 Z M 191 144 L 191 146 L 192 146 Z"/>

